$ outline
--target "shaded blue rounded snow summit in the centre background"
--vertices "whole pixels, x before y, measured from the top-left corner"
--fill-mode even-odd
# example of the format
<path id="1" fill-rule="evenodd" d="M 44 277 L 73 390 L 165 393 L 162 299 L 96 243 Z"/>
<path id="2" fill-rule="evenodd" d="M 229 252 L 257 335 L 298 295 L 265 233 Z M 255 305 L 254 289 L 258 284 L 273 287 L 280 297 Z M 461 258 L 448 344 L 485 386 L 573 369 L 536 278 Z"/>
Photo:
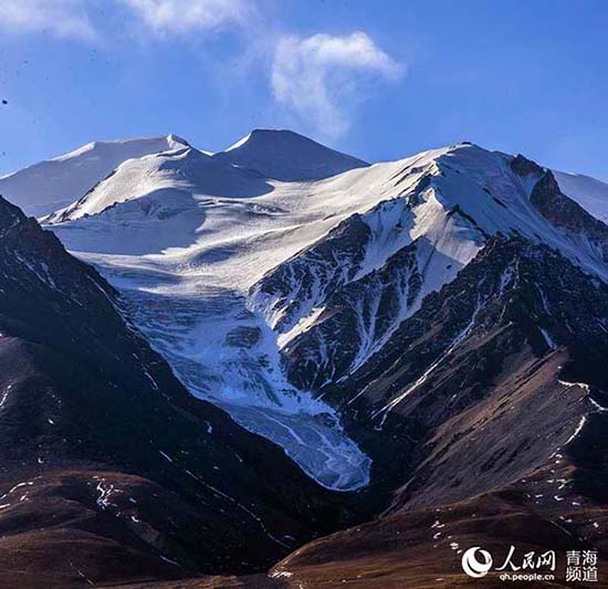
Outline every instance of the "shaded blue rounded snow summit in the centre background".
<path id="1" fill-rule="evenodd" d="M 369 166 L 291 130 L 255 129 L 213 157 L 283 181 L 321 180 Z"/>

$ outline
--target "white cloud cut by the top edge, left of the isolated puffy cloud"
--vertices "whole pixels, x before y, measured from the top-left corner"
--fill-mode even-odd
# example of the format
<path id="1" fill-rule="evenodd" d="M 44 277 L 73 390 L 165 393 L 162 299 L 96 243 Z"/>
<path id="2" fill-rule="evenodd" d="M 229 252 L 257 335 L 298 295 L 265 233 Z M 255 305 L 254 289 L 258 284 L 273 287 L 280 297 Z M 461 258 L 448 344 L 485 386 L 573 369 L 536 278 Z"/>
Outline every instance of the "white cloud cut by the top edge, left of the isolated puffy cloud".
<path id="1" fill-rule="evenodd" d="M 248 0 L 123 0 L 156 33 L 188 33 L 244 24 L 253 13 Z"/>

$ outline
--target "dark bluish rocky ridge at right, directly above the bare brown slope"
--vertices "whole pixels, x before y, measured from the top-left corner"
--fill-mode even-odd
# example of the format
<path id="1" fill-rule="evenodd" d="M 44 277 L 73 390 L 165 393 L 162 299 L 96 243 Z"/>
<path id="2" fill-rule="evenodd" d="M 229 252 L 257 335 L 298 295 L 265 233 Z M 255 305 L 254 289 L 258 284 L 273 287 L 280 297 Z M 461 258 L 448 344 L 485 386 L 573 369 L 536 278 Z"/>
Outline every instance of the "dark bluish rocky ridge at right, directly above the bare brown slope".
<path id="1" fill-rule="evenodd" d="M 434 428 L 496 392 L 497 382 L 506 383 L 524 367 L 542 371 L 542 358 L 553 351 L 543 330 L 554 346 L 567 349 L 563 378 L 591 383 L 602 398 L 606 317 L 606 284 L 544 245 L 496 238 L 324 398 L 342 408 L 354 435 L 365 432 L 361 438 L 379 448 L 397 444 L 387 464 L 381 463 L 387 453 L 378 452 L 379 477 L 386 477 L 403 467 L 396 455 L 411 455 L 415 446 L 424 454 L 420 444 Z"/>

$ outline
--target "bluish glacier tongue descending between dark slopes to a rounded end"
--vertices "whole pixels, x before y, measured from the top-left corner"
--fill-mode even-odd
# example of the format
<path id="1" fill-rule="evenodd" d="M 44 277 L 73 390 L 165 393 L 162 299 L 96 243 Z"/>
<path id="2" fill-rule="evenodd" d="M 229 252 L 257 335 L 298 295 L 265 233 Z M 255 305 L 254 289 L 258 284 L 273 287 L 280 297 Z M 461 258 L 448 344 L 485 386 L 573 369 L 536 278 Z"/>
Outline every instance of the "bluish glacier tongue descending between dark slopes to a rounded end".
<path id="1" fill-rule="evenodd" d="M 242 294 L 146 266 L 136 256 L 78 255 L 120 291 L 126 315 L 192 395 L 281 445 L 323 486 L 368 484 L 369 457 L 331 407 L 286 382 L 274 336 Z"/>

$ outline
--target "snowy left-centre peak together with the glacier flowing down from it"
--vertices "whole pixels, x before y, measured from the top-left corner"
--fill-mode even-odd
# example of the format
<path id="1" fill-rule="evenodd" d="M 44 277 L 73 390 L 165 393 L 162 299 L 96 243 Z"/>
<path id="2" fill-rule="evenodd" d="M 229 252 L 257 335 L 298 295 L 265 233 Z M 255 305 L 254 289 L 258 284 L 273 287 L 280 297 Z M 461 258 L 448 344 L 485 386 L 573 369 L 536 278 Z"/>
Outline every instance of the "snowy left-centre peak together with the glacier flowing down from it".
<path id="1" fill-rule="evenodd" d="M 284 137 L 260 134 L 270 152 L 274 138 L 283 145 Z M 264 178 L 251 166 L 186 147 L 125 161 L 46 221 L 120 284 L 138 327 L 195 395 L 277 441 L 325 485 L 347 490 L 367 483 L 369 459 L 343 434 L 329 407 L 285 380 L 274 335 L 247 296 L 285 250 L 296 253 L 331 228 L 332 219 L 321 217 L 332 199 L 336 208 L 344 202 L 329 193 L 332 186 L 316 196 L 312 214 L 290 212 L 298 200 L 294 190 L 303 196 L 310 183 Z M 312 219 L 321 222 L 311 225 Z M 300 227 L 295 239 L 290 224 Z"/>

